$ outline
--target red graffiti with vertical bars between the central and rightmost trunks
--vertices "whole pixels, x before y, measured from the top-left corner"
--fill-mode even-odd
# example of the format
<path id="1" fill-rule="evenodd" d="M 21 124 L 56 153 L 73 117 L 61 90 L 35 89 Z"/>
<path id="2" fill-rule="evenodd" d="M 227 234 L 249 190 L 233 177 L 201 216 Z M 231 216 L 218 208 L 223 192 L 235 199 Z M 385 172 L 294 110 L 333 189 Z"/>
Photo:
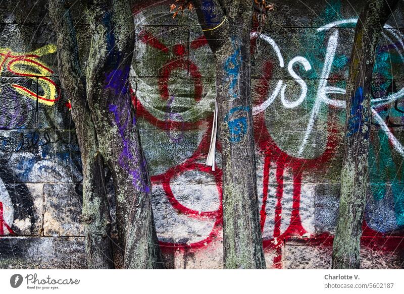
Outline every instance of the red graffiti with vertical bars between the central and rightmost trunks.
<path id="1" fill-rule="evenodd" d="M 256 103 L 262 103 L 265 97 L 268 95 L 269 85 L 268 81 L 272 77 L 272 64 L 267 62 L 263 68 L 264 79 L 262 79 L 261 84 L 256 88 L 256 92 L 259 94 L 259 100 Z M 269 172 L 271 161 L 276 163 L 276 205 L 275 205 L 275 225 L 273 232 L 273 239 L 263 240 L 263 245 L 265 250 L 273 250 L 276 255 L 273 260 L 274 268 L 281 268 L 282 251 L 281 247 L 284 243 L 293 237 L 302 237 L 307 231 L 301 224 L 299 206 L 300 206 L 300 188 L 301 188 L 301 174 L 306 168 L 314 167 L 318 164 L 324 163 L 329 160 L 333 152 L 332 150 L 336 147 L 336 130 L 330 130 L 328 143 L 326 150 L 320 157 L 316 159 L 302 159 L 288 155 L 282 151 L 272 140 L 268 129 L 265 126 L 264 113 L 260 113 L 255 117 L 254 121 L 254 134 L 256 143 L 259 146 L 261 152 L 265 154 L 264 160 L 264 188 L 263 188 L 263 203 L 260 211 L 261 215 L 261 230 L 264 230 L 264 224 L 266 219 L 266 204 L 268 197 L 268 186 L 269 186 Z M 292 200 L 292 211 L 289 226 L 287 229 L 281 233 L 281 214 L 282 214 L 282 197 L 283 197 L 283 171 L 285 168 L 291 168 L 293 173 L 293 200 Z"/>

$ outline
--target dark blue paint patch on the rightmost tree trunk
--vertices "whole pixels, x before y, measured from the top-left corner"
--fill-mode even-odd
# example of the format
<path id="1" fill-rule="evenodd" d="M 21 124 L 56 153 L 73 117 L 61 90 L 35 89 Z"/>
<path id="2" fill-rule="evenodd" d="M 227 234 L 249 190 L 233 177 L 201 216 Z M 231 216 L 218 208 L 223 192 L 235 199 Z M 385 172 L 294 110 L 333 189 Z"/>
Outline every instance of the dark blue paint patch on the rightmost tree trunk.
<path id="1" fill-rule="evenodd" d="M 352 99 L 352 104 L 350 105 L 350 117 L 348 120 L 348 132 L 347 136 L 350 137 L 358 132 L 362 132 L 363 126 L 365 124 L 365 119 L 363 117 L 363 88 L 359 87 L 355 96 Z M 366 138 L 369 137 L 369 130 L 366 132 Z"/>

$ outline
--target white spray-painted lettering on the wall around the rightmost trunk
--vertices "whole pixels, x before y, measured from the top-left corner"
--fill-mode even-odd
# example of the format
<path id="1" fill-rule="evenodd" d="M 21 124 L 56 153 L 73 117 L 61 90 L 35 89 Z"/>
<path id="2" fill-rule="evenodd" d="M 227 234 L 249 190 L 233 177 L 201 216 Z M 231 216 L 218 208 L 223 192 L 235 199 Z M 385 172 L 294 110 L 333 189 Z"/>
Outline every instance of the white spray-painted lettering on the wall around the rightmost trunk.
<path id="1" fill-rule="evenodd" d="M 321 31 L 327 31 L 331 29 L 335 29 L 339 26 L 347 26 L 347 25 L 354 25 L 357 23 L 358 19 L 357 18 L 351 18 L 347 20 L 341 20 L 341 21 L 336 21 L 329 23 L 325 26 L 322 26 L 317 29 L 318 32 Z M 404 36 L 398 31 L 393 29 L 389 25 L 384 26 L 385 31 L 383 32 L 383 35 L 386 40 L 391 42 L 392 46 L 394 49 L 398 52 L 399 57 L 401 58 L 401 61 L 404 63 L 404 56 L 402 52 L 404 51 L 404 44 L 403 44 L 403 39 Z M 331 73 L 331 68 L 332 64 L 334 61 L 335 57 L 335 52 L 338 46 L 338 30 L 334 30 L 332 34 L 330 35 L 328 42 L 327 42 L 327 50 L 325 54 L 325 60 L 324 60 L 324 65 L 321 71 L 321 76 L 319 79 L 319 85 L 317 88 L 315 100 L 314 100 L 314 105 L 310 113 L 310 119 L 306 128 L 306 132 L 304 137 L 302 138 L 301 144 L 298 148 L 298 155 L 301 156 L 302 153 L 305 150 L 305 147 L 308 144 L 309 137 L 313 131 L 317 116 L 319 114 L 320 108 L 323 104 L 330 105 L 336 108 L 340 109 L 345 109 L 345 101 L 344 100 L 338 100 L 338 99 L 331 99 L 328 95 L 330 94 L 340 94 L 344 95 L 345 94 L 345 89 L 344 88 L 338 88 L 338 87 L 331 87 L 328 86 L 328 78 Z M 251 37 L 257 36 L 257 33 L 251 33 Z M 268 44 L 270 44 L 277 57 L 279 60 L 279 66 L 281 68 L 284 67 L 284 60 L 282 57 L 282 54 L 280 52 L 279 46 L 276 44 L 276 42 L 270 38 L 269 36 L 262 34 L 260 37 L 266 41 Z M 274 90 L 270 93 L 268 93 L 268 98 L 261 104 L 254 106 L 253 108 L 253 113 L 258 114 L 262 111 L 265 111 L 268 106 L 270 106 L 278 94 L 280 94 L 280 100 L 282 102 L 282 105 L 285 108 L 294 108 L 299 106 L 307 97 L 307 92 L 308 92 L 308 87 L 306 82 L 294 72 L 293 70 L 293 65 L 295 63 L 300 63 L 301 65 L 304 66 L 304 69 L 306 71 L 310 71 L 312 69 L 312 66 L 310 65 L 309 61 L 302 56 L 296 56 L 290 60 L 288 63 L 288 73 L 289 75 L 294 79 L 294 81 L 299 84 L 301 91 L 300 91 L 300 96 L 295 99 L 287 99 L 285 95 L 285 90 L 286 90 L 286 84 L 284 84 L 283 80 L 279 79 Z M 387 127 L 386 123 L 383 121 L 383 119 L 380 117 L 378 112 L 374 109 L 380 106 L 384 106 L 388 103 L 394 102 L 395 100 L 401 98 L 404 96 L 404 88 L 401 88 L 395 93 L 391 93 L 387 96 L 384 97 L 379 97 L 379 98 L 374 98 L 371 100 L 372 102 L 372 114 L 373 114 L 373 119 L 375 120 L 376 123 L 378 123 L 381 127 L 381 129 L 386 133 L 386 135 L 389 138 L 390 143 L 394 146 L 394 149 L 400 153 L 402 156 L 404 156 L 404 147 L 401 145 L 401 143 L 394 137 L 394 135 L 391 133 L 389 128 Z M 343 98 L 343 97 L 342 97 Z"/>

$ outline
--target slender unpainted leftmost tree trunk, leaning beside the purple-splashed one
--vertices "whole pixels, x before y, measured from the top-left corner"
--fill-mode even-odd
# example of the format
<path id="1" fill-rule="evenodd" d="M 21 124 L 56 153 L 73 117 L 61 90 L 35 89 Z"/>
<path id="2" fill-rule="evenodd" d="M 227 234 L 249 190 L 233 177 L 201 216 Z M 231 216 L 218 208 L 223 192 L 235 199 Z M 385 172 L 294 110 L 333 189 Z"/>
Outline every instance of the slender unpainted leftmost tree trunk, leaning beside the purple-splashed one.
<path id="1" fill-rule="evenodd" d="M 86 103 L 85 82 L 78 60 L 76 34 L 64 0 L 49 0 L 57 36 L 59 76 L 71 100 L 83 166 L 83 211 L 88 268 L 114 268 L 107 206 L 104 160 Z"/>

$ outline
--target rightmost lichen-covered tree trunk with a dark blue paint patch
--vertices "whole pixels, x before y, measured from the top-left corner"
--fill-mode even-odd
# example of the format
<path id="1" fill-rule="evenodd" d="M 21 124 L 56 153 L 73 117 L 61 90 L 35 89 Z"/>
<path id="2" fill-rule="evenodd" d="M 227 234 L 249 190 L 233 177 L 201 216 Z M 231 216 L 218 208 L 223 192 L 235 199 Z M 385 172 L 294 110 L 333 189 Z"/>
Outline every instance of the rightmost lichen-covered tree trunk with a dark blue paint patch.
<path id="1" fill-rule="evenodd" d="M 355 30 L 346 87 L 345 155 L 332 268 L 360 267 L 360 238 L 368 184 L 371 81 L 375 49 L 398 0 L 369 0 Z"/>

